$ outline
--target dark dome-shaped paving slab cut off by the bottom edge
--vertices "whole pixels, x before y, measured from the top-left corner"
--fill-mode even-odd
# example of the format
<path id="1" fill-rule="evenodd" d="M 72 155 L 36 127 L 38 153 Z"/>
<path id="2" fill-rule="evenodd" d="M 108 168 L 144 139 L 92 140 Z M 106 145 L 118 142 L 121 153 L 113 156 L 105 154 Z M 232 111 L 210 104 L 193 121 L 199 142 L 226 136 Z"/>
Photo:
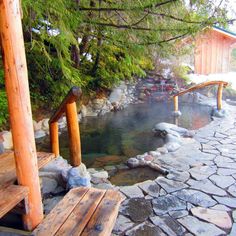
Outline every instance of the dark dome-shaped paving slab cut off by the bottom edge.
<path id="1" fill-rule="evenodd" d="M 151 223 L 142 223 L 139 224 L 137 226 L 135 226 L 134 228 L 128 230 L 125 233 L 126 236 L 144 236 L 144 235 L 148 235 L 148 236 L 166 236 L 165 233 L 163 233 L 163 231 L 151 224 Z"/>

